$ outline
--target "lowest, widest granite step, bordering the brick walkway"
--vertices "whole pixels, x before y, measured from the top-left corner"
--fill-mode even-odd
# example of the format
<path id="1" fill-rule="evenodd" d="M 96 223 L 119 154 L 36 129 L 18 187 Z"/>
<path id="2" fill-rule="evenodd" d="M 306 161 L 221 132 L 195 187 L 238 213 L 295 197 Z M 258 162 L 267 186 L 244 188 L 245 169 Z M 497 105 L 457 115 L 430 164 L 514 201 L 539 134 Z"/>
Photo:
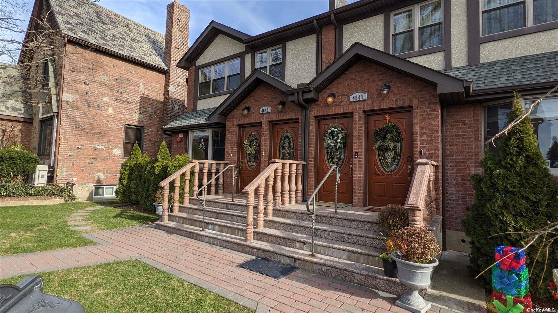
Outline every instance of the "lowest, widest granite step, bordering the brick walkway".
<path id="1" fill-rule="evenodd" d="M 215 244 L 216 246 L 229 248 L 230 250 L 248 255 L 291 264 L 304 270 L 339 278 L 391 294 L 401 295 L 407 291 L 406 287 L 401 285 L 397 278 L 385 276 L 382 268 L 325 255 L 311 257 L 308 252 L 296 248 L 258 240 L 246 242 L 242 236 L 216 232 L 211 229 L 200 231 L 198 227 L 177 222 L 155 222 L 155 225 L 158 229 L 170 233 L 180 234 L 181 236 Z"/>

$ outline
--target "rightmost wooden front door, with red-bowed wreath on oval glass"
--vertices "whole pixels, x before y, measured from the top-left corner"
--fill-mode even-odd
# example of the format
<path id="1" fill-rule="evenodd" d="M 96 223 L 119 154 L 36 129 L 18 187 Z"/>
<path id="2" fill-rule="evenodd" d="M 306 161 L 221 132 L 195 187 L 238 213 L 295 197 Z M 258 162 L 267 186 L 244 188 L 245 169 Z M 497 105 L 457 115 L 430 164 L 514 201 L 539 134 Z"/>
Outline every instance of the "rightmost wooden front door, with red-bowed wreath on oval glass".
<path id="1" fill-rule="evenodd" d="M 401 131 L 401 143 L 391 151 L 374 149 L 374 130 L 386 125 L 386 113 L 368 116 L 368 205 L 405 204 L 413 170 L 411 111 L 389 113 L 389 123 Z"/>

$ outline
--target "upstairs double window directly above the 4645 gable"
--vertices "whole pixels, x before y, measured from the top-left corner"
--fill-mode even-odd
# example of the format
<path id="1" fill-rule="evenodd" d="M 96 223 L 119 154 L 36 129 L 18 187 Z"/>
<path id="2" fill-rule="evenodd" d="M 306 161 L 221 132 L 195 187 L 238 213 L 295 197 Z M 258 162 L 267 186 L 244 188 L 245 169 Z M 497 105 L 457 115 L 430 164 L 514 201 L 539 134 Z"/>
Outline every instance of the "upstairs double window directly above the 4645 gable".
<path id="1" fill-rule="evenodd" d="M 442 45 L 442 12 L 441 1 L 423 2 L 392 12 L 392 53 L 397 55 Z"/>

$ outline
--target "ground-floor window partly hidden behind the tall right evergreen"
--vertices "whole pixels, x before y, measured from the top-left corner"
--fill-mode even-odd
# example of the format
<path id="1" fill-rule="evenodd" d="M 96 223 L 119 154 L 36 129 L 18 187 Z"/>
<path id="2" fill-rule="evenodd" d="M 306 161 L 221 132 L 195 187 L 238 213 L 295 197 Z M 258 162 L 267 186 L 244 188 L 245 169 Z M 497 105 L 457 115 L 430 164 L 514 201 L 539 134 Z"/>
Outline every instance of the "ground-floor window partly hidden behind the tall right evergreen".
<path id="1" fill-rule="evenodd" d="M 532 100 L 526 100 L 526 107 L 532 104 Z M 484 108 L 484 141 L 492 138 L 508 125 L 507 114 L 511 110 L 510 102 L 486 106 Z M 529 115 L 533 132 L 537 135 L 538 148 L 546 159 L 550 172 L 558 175 L 558 97 L 542 100 L 540 104 L 533 107 Z M 492 144 L 486 145 L 493 153 L 498 154 L 498 141 L 496 147 Z"/>

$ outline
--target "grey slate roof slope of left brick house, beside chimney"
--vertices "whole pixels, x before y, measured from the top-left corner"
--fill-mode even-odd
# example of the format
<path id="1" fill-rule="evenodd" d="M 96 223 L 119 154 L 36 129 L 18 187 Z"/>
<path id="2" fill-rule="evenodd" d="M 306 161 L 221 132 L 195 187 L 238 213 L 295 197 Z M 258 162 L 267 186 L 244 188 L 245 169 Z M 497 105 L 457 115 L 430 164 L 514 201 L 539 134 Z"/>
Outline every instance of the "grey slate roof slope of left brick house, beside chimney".
<path id="1" fill-rule="evenodd" d="M 88 0 L 50 0 L 62 34 L 167 70 L 165 35 Z"/>

